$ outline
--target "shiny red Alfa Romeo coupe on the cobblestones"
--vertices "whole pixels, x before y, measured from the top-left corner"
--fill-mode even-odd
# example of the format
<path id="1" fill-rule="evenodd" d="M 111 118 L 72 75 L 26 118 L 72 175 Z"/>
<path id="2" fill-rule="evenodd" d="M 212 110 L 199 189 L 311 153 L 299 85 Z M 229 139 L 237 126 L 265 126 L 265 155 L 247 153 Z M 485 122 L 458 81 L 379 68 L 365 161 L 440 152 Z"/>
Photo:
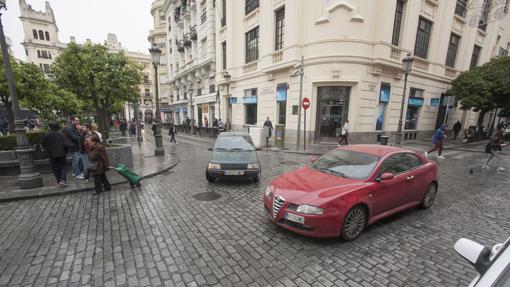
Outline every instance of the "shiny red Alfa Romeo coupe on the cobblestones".
<path id="1" fill-rule="evenodd" d="M 356 239 L 367 224 L 432 206 L 437 165 L 415 151 L 349 145 L 273 180 L 264 193 L 269 218 L 312 237 Z"/>

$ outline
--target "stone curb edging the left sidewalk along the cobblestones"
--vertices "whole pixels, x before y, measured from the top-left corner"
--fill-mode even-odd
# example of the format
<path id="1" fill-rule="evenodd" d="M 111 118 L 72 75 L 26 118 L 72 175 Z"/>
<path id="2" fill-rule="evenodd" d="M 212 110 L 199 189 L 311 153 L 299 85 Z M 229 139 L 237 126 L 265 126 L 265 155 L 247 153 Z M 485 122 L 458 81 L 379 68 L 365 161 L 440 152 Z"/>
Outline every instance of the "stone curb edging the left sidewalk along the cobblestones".
<path id="1" fill-rule="evenodd" d="M 144 175 L 141 178 L 142 179 L 147 179 L 147 178 L 151 178 L 151 177 L 157 176 L 159 174 L 165 173 L 165 172 L 173 169 L 174 167 L 176 167 L 180 162 L 181 162 L 181 158 L 179 156 L 177 156 L 176 161 L 174 163 L 170 164 L 170 166 L 168 166 L 167 168 L 164 168 L 164 169 L 159 170 L 159 171 L 154 172 L 154 173 L 150 173 L 150 174 Z M 117 182 L 111 183 L 111 186 L 116 186 L 116 185 L 124 184 L 124 183 L 127 183 L 127 182 L 128 181 L 123 178 L 123 180 L 121 180 L 121 181 L 117 181 Z M 57 188 L 60 188 L 60 187 L 57 187 Z M 69 189 L 69 190 L 62 190 L 62 191 L 50 191 L 50 192 L 47 192 L 47 193 L 39 191 L 39 192 L 37 192 L 37 194 L 10 196 L 10 197 L 5 197 L 5 198 L 1 198 L 0 197 L 0 202 L 12 202 L 12 201 L 19 201 L 19 200 L 26 200 L 26 199 L 37 199 L 37 198 L 44 198 L 44 197 L 52 197 L 52 196 L 66 195 L 66 194 L 78 193 L 78 192 L 89 191 L 89 190 L 94 190 L 94 187 L 93 186 L 90 186 L 90 187 L 87 186 L 87 187 L 80 187 L 80 188 L 76 188 L 76 189 Z M 16 193 L 16 192 L 19 192 L 19 193 L 27 192 L 28 193 L 30 191 L 32 191 L 32 190 L 30 190 L 30 189 L 28 189 L 28 190 L 17 190 L 17 191 L 13 191 L 13 193 Z"/>

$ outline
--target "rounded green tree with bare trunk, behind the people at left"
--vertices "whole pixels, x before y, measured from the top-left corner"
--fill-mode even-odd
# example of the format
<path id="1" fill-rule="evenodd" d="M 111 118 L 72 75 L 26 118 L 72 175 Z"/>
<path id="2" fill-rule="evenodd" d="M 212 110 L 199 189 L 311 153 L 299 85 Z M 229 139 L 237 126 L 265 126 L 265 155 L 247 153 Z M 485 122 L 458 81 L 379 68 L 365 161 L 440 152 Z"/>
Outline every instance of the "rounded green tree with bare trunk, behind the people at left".
<path id="1" fill-rule="evenodd" d="M 109 53 L 103 45 L 75 43 L 52 66 L 55 82 L 73 92 L 96 112 L 99 130 L 108 138 L 109 109 L 138 100 L 142 68 L 122 52 Z"/>

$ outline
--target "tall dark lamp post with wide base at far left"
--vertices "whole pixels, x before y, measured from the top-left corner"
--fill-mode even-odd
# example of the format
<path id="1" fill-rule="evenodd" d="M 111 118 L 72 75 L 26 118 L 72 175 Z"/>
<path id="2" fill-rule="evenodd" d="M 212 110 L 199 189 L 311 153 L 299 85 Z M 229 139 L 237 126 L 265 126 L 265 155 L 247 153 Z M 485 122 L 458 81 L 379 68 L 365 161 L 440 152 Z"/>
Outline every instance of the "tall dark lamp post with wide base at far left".
<path id="1" fill-rule="evenodd" d="M 0 0 L 0 11 L 7 10 L 5 0 Z M 21 174 L 18 176 L 18 184 L 20 188 L 36 188 L 43 185 L 41 175 L 35 170 L 33 150 L 30 148 L 27 134 L 25 131 L 24 121 L 20 117 L 18 95 L 14 84 L 14 75 L 12 72 L 9 51 L 5 42 L 4 26 L 0 13 L 0 46 L 2 46 L 2 59 L 5 65 L 5 74 L 7 78 L 7 86 L 9 87 L 9 96 L 12 103 L 12 111 L 14 114 L 14 124 L 16 131 L 16 157 L 18 158 Z"/>

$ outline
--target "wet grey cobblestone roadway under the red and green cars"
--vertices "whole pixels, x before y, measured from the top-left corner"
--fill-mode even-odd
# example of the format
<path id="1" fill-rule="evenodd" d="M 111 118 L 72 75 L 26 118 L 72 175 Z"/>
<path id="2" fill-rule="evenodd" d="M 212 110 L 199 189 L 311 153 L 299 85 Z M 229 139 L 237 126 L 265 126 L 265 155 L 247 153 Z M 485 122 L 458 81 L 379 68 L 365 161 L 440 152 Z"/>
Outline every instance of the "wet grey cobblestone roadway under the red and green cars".
<path id="1" fill-rule="evenodd" d="M 261 151 L 260 184 L 209 184 L 208 141 L 178 140 L 181 164 L 142 190 L 0 204 L 0 286 L 466 286 L 475 271 L 454 242 L 510 235 L 508 173 L 482 171 L 481 153 L 446 154 L 431 209 L 392 216 L 345 243 L 265 217 L 266 184 L 309 156 Z M 194 198 L 203 192 L 221 197 Z"/>

